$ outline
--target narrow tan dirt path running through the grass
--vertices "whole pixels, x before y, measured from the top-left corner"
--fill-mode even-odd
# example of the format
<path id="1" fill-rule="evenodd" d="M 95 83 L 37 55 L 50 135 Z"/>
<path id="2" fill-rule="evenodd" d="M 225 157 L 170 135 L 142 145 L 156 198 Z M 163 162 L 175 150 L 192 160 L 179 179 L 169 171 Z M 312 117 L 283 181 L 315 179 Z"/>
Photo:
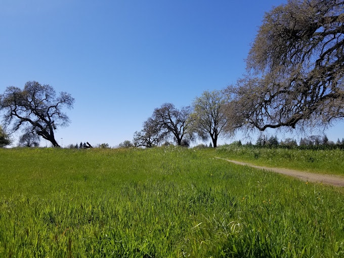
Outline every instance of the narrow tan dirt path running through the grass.
<path id="1" fill-rule="evenodd" d="M 344 177 L 341 177 L 341 176 L 315 174 L 315 173 L 298 171 L 298 170 L 293 170 L 293 169 L 288 169 L 288 168 L 257 166 L 251 163 L 240 162 L 236 160 L 230 160 L 230 159 L 219 158 L 219 157 L 216 157 L 216 158 L 223 159 L 223 160 L 226 160 L 235 164 L 239 164 L 239 165 L 251 166 L 251 167 L 255 167 L 259 169 L 274 171 L 276 173 L 298 178 L 300 180 L 304 180 L 307 182 L 323 183 L 323 184 L 332 185 L 332 186 L 344 187 Z"/>

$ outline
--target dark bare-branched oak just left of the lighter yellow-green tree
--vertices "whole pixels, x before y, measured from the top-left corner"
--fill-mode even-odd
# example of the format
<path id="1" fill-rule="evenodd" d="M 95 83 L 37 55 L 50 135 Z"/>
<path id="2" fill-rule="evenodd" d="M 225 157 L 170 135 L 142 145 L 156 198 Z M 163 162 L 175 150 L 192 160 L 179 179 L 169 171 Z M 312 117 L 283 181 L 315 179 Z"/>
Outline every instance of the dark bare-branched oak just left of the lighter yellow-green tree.
<path id="1" fill-rule="evenodd" d="M 182 107 L 181 110 L 178 110 L 175 105 L 165 103 L 154 110 L 151 121 L 155 130 L 160 132 L 161 137 L 173 137 L 177 145 L 181 145 L 184 137 L 192 138 L 188 132 L 190 113 L 190 107 Z"/>

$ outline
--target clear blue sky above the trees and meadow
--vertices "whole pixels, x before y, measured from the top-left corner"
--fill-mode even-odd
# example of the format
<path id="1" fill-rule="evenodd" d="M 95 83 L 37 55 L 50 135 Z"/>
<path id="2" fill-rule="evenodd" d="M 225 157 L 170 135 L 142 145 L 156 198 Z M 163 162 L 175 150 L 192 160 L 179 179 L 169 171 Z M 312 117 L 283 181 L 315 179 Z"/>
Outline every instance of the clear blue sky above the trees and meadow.
<path id="1" fill-rule="evenodd" d="M 2 0 L 0 93 L 29 80 L 70 93 L 71 124 L 56 132 L 64 146 L 132 141 L 161 104 L 235 83 L 264 13 L 281 3 Z"/>

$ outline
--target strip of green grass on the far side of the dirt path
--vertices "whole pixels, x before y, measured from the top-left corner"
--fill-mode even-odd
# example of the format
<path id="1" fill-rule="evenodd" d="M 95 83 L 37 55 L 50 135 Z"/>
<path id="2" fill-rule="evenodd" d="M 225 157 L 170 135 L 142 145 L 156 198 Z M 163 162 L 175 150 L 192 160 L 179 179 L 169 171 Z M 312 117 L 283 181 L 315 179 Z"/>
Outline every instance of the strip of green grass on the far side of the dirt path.
<path id="1" fill-rule="evenodd" d="M 216 150 L 216 155 L 256 165 L 344 176 L 344 150 L 341 149 L 302 150 L 224 145 Z"/>

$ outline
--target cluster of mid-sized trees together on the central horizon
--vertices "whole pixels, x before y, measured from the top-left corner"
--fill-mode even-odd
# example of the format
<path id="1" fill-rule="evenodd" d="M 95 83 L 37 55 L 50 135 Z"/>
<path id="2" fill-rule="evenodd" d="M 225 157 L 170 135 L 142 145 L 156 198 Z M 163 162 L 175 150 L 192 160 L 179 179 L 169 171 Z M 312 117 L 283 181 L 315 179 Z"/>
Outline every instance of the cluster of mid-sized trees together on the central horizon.
<path id="1" fill-rule="evenodd" d="M 144 121 L 142 130 L 135 132 L 134 145 L 151 148 L 171 140 L 176 145 L 189 147 L 196 139 L 210 139 L 212 146 L 217 147 L 219 137 L 229 133 L 226 131 L 226 103 L 227 95 L 223 90 L 205 91 L 192 106 L 180 109 L 172 103 L 164 103 Z"/>

